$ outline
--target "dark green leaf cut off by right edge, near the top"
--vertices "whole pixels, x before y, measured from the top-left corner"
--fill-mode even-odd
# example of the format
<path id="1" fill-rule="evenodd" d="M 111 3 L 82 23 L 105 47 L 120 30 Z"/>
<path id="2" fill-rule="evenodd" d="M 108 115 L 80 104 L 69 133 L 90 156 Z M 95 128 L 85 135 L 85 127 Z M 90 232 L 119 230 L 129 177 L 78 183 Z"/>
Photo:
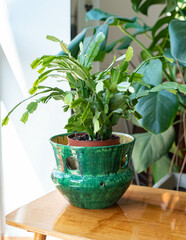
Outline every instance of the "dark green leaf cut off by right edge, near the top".
<path id="1" fill-rule="evenodd" d="M 172 56 L 186 63 L 186 21 L 174 19 L 169 24 Z"/>

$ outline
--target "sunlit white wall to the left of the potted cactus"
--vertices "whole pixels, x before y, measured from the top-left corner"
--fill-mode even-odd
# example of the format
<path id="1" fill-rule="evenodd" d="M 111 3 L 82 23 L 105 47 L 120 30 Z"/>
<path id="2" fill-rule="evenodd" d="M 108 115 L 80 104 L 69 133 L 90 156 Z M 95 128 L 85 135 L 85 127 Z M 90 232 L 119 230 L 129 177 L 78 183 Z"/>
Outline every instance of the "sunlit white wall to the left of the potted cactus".
<path id="1" fill-rule="evenodd" d="M 66 43 L 70 41 L 70 0 L 4 0 L 0 9 L 0 18 L 4 18 L 0 25 L 3 118 L 28 96 L 27 91 L 37 76 L 30 63 L 43 54 L 60 51 L 57 44 L 46 40 L 46 35 L 57 36 Z M 62 84 L 67 89 L 64 82 Z M 64 132 L 70 115 L 63 113 L 62 103 L 51 101 L 40 105 L 24 125 L 19 119 L 26 106 L 13 113 L 8 126 L 2 128 L 5 214 L 54 189 L 50 174 L 55 160 L 49 138 Z M 23 231 L 6 226 L 6 235 L 22 234 Z"/>

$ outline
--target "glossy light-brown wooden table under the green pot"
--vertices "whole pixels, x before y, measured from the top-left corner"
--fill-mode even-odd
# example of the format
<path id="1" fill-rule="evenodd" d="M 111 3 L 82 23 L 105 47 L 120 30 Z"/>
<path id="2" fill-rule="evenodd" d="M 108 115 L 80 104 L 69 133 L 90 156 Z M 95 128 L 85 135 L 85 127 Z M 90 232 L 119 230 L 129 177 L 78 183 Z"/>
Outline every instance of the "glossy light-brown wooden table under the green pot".
<path id="1" fill-rule="evenodd" d="M 113 207 L 86 210 L 56 190 L 6 217 L 7 224 L 61 239 L 186 239 L 186 193 L 131 185 Z"/>

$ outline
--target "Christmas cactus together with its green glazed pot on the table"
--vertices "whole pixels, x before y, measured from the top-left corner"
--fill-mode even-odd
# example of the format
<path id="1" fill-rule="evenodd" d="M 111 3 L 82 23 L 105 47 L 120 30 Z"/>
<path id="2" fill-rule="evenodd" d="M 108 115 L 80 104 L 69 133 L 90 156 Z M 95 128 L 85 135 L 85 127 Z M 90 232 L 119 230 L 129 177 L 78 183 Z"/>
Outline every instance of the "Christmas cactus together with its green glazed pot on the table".
<path id="1" fill-rule="evenodd" d="M 135 111 L 135 105 L 148 91 L 138 94 L 134 87 L 136 84 L 149 87 L 142 82 L 143 75 L 137 73 L 149 60 L 130 73 L 128 65 L 133 49 L 129 47 L 126 54 L 114 58 L 106 70 L 91 74 L 92 62 L 105 39 L 102 32 L 88 46 L 80 43 L 77 59 L 62 41 L 52 36 L 47 38 L 58 42 L 63 54 L 44 55 L 32 63 L 34 69 L 40 66 L 40 75 L 29 91 L 32 96 L 17 104 L 3 119 L 2 125 L 8 123 L 9 115 L 24 101 L 34 99 L 21 118 L 25 123 L 39 103 L 62 100 L 64 112 L 73 110 L 65 126 L 73 134 L 61 134 L 50 139 L 57 162 L 52 179 L 75 206 L 90 209 L 111 206 L 132 181 L 130 157 L 134 145 L 134 137 L 113 134 L 112 127 L 121 117 L 130 119 L 131 114 L 141 117 Z M 57 80 L 57 86 L 42 85 L 47 78 Z M 69 83 L 70 90 L 61 88 L 63 81 Z"/>

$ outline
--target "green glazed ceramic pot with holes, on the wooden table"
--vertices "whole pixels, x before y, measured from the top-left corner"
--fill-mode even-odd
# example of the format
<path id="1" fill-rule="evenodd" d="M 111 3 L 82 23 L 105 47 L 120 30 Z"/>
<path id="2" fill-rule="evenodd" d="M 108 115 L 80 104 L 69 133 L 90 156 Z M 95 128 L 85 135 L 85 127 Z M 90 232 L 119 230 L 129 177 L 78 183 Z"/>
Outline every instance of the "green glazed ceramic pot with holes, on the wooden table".
<path id="1" fill-rule="evenodd" d="M 120 144 L 103 147 L 68 146 L 68 134 L 50 139 L 57 163 L 51 177 L 72 205 L 106 208 L 114 205 L 129 187 L 135 140 L 128 134 L 114 134 L 120 136 Z"/>

